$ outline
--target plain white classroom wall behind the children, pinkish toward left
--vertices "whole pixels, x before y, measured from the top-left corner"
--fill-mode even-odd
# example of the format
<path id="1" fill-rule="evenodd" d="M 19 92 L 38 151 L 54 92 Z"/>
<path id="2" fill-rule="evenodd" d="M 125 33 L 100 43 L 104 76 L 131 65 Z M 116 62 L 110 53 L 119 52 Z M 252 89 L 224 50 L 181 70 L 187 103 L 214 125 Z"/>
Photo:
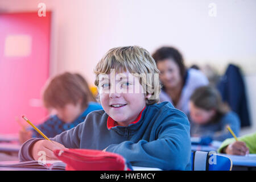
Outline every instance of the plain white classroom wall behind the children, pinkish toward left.
<path id="1" fill-rule="evenodd" d="M 212 64 L 223 72 L 230 61 L 246 76 L 256 74 L 255 0 L 0 0 L 0 11 L 53 11 L 51 75 L 93 68 L 110 48 L 139 45 L 153 52 L 175 46 L 187 65 Z M 209 16 L 209 4 L 217 6 Z M 254 122 L 256 80 L 246 78 Z"/>

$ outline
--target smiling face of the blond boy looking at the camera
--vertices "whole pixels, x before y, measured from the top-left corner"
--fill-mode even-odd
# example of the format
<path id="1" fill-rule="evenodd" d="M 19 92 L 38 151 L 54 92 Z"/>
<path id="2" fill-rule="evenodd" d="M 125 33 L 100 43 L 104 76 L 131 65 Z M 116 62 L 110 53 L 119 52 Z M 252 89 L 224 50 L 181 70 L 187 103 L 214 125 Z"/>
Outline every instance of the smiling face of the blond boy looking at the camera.
<path id="1" fill-rule="evenodd" d="M 135 121 L 146 106 L 146 94 L 139 78 L 128 71 L 101 74 L 98 86 L 103 109 L 120 126 Z"/>

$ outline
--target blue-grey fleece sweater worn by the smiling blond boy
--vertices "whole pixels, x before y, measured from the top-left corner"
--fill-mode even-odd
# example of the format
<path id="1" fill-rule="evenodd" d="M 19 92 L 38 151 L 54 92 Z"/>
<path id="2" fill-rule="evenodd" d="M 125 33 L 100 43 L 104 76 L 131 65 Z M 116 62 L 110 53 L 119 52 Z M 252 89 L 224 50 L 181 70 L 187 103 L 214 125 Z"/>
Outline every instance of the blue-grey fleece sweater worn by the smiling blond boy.
<path id="1" fill-rule="evenodd" d="M 122 155 L 133 166 L 165 170 L 191 170 L 191 141 L 187 116 L 170 102 L 148 105 L 137 123 L 107 127 L 108 114 L 93 111 L 75 128 L 54 138 L 67 148 L 104 150 Z M 20 160 L 33 160 L 31 146 L 23 144 Z"/>

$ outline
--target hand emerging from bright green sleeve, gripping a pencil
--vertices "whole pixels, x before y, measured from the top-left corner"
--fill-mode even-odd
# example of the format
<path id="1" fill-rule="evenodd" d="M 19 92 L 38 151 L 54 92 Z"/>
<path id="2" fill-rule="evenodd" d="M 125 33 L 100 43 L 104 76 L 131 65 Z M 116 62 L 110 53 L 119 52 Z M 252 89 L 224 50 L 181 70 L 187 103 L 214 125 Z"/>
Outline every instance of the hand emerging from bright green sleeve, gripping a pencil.
<path id="1" fill-rule="evenodd" d="M 236 141 L 225 148 L 225 153 L 229 155 L 246 155 L 249 154 L 249 148 L 246 147 L 245 142 Z"/>

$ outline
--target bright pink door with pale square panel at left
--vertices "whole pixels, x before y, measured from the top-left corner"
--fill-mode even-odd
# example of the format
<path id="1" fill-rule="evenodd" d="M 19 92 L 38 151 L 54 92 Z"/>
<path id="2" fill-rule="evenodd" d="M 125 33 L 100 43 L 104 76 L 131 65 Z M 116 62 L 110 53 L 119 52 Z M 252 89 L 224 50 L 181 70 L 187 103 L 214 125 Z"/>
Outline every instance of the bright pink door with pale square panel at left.
<path id="1" fill-rule="evenodd" d="M 40 92 L 49 75 L 50 24 L 49 12 L 0 14 L 0 134 L 18 132 L 16 117 L 35 124 L 46 117 Z"/>

